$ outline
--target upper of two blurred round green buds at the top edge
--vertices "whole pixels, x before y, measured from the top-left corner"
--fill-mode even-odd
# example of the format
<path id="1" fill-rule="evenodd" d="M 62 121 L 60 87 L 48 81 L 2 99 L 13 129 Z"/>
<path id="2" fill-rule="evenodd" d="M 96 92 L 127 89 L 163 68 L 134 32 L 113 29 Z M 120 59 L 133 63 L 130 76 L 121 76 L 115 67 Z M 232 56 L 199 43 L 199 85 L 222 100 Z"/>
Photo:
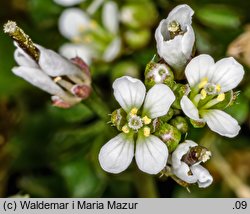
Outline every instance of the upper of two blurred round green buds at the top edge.
<path id="1" fill-rule="evenodd" d="M 155 24 L 157 15 L 157 10 L 151 2 L 131 2 L 122 7 L 121 22 L 133 29 L 148 28 Z"/>

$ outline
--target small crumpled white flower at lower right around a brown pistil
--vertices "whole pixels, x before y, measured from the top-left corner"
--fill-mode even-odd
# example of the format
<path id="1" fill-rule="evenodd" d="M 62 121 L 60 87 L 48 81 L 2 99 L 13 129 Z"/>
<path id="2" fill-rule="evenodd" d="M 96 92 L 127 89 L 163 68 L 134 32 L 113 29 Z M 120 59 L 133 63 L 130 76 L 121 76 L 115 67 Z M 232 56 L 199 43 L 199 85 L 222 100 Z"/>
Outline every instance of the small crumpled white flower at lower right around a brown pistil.
<path id="1" fill-rule="evenodd" d="M 213 177 L 209 172 L 200 165 L 201 162 L 205 162 L 210 158 L 211 153 L 206 152 L 202 161 L 198 161 L 195 164 L 187 164 L 182 159 L 186 155 L 190 148 L 197 146 L 198 144 L 186 140 L 184 143 L 179 144 L 176 150 L 172 154 L 172 172 L 181 180 L 187 183 L 198 183 L 199 187 L 208 187 L 213 182 Z"/>

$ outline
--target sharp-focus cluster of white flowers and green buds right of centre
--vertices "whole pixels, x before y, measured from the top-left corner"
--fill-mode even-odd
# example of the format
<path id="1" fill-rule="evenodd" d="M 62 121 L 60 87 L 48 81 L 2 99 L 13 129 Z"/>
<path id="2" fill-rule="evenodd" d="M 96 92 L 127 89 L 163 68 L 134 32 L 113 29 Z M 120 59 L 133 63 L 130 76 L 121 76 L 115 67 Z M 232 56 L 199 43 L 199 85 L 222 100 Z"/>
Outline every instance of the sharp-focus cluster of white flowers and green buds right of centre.
<path id="1" fill-rule="evenodd" d="M 124 171 L 135 153 L 138 168 L 146 173 L 161 172 L 201 188 L 212 183 L 201 166 L 211 152 L 185 139 L 188 120 L 195 128 L 207 124 L 222 136 L 235 137 L 240 126 L 224 109 L 234 104 L 237 92 L 232 89 L 244 70 L 232 57 L 216 63 L 206 54 L 193 57 L 193 14 L 188 5 L 179 5 L 160 22 L 155 32 L 159 57 L 146 66 L 145 85 L 127 76 L 113 83 L 121 108 L 111 122 L 121 133 L 100 150 L 105 171 Z"/>

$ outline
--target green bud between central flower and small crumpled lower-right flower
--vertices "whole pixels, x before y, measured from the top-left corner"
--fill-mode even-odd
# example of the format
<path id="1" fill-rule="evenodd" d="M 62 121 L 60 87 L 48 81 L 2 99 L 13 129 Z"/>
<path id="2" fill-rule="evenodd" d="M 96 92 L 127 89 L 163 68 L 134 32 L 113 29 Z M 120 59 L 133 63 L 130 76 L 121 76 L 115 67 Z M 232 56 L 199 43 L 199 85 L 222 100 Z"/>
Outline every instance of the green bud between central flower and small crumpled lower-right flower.
<path id="1" fill-rule="evenodd" d="M 161 124 L 155 135 L 167 144 L 169 152 L 173 152 L 181 140 L 180 131 L 167 123 Z"/>

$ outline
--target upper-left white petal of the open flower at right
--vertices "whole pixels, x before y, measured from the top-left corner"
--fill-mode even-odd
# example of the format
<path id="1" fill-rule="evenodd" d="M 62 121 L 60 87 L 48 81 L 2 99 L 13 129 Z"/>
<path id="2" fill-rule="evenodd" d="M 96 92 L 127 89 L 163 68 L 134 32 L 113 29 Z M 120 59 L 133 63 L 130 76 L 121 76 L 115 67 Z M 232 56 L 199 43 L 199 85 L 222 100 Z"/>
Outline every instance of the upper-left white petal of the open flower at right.
<path id="1" fill-rule="evenodd" d="M 214 60 L 207 54 L 193 58 L 185 69 L 185 75 L 191 87 L 199 84 L 204 77 L 208 77 L 208 70 L 214 65 Z"/>

